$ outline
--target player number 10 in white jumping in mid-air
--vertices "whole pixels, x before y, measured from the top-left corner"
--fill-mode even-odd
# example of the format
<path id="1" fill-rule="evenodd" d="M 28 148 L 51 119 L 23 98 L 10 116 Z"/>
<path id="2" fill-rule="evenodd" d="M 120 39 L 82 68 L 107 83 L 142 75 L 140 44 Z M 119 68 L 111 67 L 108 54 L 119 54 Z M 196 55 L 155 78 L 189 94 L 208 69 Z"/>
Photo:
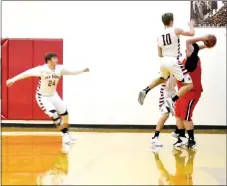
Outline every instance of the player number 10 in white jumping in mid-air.
<path id="1" fill-rule="evenodd" d="M 179 89 L 178 93 L 171 98 L 166 99 L 166 107 L 170 109 L 170 112 L 174 113 L 175 101 L 183 96 L 185 93 L 193 88 L 193 83 L 187 70 L 180 63 L 180 35 L 193 36 L 194 35 L 194 21 L 189 23 L 190 31 L 184 31 L 179 28 L 173 28 L 173 14 L 165 13 L 162 16 L 162 22 L 165 26 L 164 31 L 158 37 L 158 55 L 161 58 L 161 77 L 154 79 L 151 84 L 139 93 L 138 101 L 143 105 L 144 99 L 147 93 L 164 83 L 173 74 L 177 81 L 181 81 L 183 86 Z"/>

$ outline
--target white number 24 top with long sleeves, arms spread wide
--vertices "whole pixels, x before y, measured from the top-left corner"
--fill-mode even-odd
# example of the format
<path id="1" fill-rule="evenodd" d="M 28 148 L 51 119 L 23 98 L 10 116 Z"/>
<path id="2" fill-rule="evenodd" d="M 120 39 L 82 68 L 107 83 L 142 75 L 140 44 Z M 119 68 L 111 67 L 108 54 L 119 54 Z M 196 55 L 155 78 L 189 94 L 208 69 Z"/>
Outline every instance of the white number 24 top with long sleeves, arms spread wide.
<path id="1" fill-rule="evenodd" d="M 82 72 L 66 69 L 63 65 L 57 65 L 54 70 L 50 69 L 48 65 L 42 65 L 29 69 L 15 76 L 12 80 L 15 81 L 32 76 L 39 77 L 40 81 L 36 92 L 43 96 L 52 96 L 57 93 L 57 85 L 62 75 L 76 75 Z"/>

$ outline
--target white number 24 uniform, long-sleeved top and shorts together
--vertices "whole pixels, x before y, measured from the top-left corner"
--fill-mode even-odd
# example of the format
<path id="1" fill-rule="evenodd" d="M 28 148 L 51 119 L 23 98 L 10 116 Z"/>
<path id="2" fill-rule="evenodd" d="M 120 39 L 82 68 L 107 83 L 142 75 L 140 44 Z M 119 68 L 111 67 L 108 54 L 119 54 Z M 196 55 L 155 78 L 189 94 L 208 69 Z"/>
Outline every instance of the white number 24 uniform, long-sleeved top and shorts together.
<path id="1" fill-rule="evenodd" d="M 56 91 L 61 76 L 79 73 L 82 73 L 82 71 L 66 69 L 63 65 L 57 65 L 54 70 L 50 69 L 47 65 L 42 65 L 29 69 L 15 76 L 12 80 L 15 81 L 25 77 L 39 77 L 36 101 L 39 107 L 49 117 L 52 117 L 53 113 L 50 112 L 51 110 L 56 110 L 60 115 L 67 111 L 66 105 Z"/>

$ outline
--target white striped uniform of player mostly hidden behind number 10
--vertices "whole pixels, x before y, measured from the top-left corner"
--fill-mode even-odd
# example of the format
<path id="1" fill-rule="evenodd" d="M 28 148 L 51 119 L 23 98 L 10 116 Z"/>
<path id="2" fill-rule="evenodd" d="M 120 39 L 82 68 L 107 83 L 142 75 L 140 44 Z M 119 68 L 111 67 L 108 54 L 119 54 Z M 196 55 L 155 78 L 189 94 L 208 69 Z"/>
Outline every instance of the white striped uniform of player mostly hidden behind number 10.
<path id="1" fill-rule="evenodd" d="M 177 80 L 171 75 L 166 83 L 163 83 L 160 88 L 160 97 L 159 97 L 159 110 L 161 114 L 169 113 L 165 106 L 166 98 L 172 98 L 176 95 L 176 86 Z"/>

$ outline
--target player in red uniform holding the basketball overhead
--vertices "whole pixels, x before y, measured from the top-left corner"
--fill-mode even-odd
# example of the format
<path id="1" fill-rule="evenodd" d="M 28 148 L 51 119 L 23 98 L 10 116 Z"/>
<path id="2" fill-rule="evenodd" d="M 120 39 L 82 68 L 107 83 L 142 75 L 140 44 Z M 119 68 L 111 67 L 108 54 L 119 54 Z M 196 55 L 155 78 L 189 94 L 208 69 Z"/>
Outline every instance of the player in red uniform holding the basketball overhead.
<path id="1" fill-rule="evenodd" d="M 193 148 L 196 145 L 194 139 L 194 124 L 192 121 L 192 115 L 196 104 L 198 103 L 201 94 L 203 92 L 203 87 L 201 83 L 201 62 L 198 56 L 198 52 L 201 49 L 206 48 L 203 44 L 199 46 L 196 42 L 203 41 L 206 42 L 208 36 L 188 39 L 186 41 L 186 58 L 183 60 L 182 64 L 185 66 L 189 75 L 193 81 L 193 89 L 187 92 L 179 100 L 177 100 L 175 105 L 176 112 L 176 123 L 178 130 L 178 140 L 174 143 L 175 147 L 180 147 L 186 145 L 188 148 Z M 182 83 L 177 83 L 178 88 L 182 87 Z M 189 139 L 185 137 L 185 129 L 187 130 Z"/>

